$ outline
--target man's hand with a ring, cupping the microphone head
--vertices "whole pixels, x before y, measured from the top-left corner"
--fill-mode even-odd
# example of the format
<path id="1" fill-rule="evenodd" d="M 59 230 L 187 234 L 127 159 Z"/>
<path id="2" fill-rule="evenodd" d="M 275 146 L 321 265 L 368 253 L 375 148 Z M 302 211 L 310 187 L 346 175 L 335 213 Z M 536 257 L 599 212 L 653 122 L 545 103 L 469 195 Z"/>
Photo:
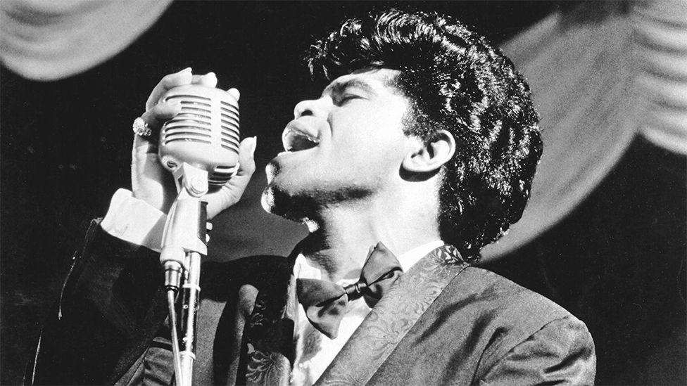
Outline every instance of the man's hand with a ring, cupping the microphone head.
<path id="1" fill-rule="evenodd" d="M 151 136 L 134 136 L 132 149 L 132 191 L 135 198 L 148 202 L 163 212 L 168 212 L 172 202 L 177 197 L 172 174 L 160 163 L 158 157 L 158 141 L 160 127 L 165 122 L 182 112 L 179 98 L 163 96 L 179 86 L 198 85 L 214 88 L 217 77 L 210 72 L 207 75 L 192 75 L 191 69 L 185 69 L 175 74 L 166 75 L 155 86 L 146 102 L 146 112 L 141 119 L 151 128 Z M 239 99 L 237 89 L 226 91 L 234 100 Z M 255 137 L 244 139 L 238 146 L 239 168 L 226 184 L 219 189 L 211 189 L 203 197 L 208 202 L 208 218 L 222 212 L 239 201 L 244 193 L 248 181 L 255 171 L 253 153 L 256 148 Z"/>

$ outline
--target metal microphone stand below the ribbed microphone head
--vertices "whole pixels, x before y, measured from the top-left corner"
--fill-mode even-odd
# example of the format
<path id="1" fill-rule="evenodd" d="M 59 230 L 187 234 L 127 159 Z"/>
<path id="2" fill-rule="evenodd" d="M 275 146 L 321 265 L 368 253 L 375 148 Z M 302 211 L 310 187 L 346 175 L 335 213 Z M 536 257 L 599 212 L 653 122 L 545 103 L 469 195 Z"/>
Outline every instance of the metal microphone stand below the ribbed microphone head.
<path id="1" fill-rule="evenodd" d="M 165 269 L 165 288 L 170 303 L 175 382 L 177 386 L 191 386 L 196 359 L 201 255 L 208 255 L 207 202 L 201 200 L 208 193 L 208 172 L 184 162 L 173 174 L 179 195 L 165 223 L 160 263 Z M 182 292 L 180 342 L 175 311 L 175 295 L 179 290 Z"/>

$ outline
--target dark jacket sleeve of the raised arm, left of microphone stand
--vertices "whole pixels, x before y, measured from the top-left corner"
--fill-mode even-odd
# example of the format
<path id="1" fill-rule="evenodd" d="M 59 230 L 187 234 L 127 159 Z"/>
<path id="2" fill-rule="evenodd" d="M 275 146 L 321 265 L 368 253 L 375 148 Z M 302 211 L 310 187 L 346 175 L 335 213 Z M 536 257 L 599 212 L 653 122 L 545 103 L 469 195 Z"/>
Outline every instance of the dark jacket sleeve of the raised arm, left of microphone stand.
<path id="1" fill-rule="evenodd" d="M 27 385 L 119 380 L 166 317 L 156 252 L 110 236 L 94 220 L 27 366 Z"/>

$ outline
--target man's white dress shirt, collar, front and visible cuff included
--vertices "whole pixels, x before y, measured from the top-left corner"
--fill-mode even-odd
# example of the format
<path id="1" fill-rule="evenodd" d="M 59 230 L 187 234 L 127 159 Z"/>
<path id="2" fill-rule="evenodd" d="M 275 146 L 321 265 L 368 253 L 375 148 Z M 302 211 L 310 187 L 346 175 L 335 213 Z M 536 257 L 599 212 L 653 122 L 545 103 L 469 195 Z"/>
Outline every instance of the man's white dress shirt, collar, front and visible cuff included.
<path id="1" fill-rule="evenodd" d="M 167 216 L 160 210 L 134 198 L 131 191 L 119 189 L 113 195 L 101 227 L 111 236 L 160 252 L 166 220 Z M 424 255 L 441 245 L 443 245 L 442 240 L 434 240 L 404 252 L 396 258 L 401 263 L 403 271 L 408 271 Z M 294 265 L 294 276 L 322 279 L 322 271 L 303 255 L 298 255 Z M 347 285 L 355 281 L 349 279 L 337 283 Z M 332 340 L 315 330 L 305 316 L 305 309 L 302 306 L 298 307 L 298 320 L 294 330 L 296 360 L 291 372 L 291 384 L 312 385 L 315 383 L 327 366 L 332 363 L 336 354 L 339 354 L 343 345 L 348 342 L 355 329 L 363 323 L 363 319 L 369 312 L 370 307 L 367 307 L 362 297 L 348 302 L 346 314 L 339 325 L 339 334 Z"/>

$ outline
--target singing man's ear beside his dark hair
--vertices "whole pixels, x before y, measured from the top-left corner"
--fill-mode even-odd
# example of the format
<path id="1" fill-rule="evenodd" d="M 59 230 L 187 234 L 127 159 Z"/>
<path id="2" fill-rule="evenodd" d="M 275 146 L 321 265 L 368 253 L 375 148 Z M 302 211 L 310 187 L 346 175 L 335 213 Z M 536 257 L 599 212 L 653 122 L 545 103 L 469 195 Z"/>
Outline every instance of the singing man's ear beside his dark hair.
<path id="1" fill-rule="evenodd" d="M 417 148 L 405 155 L 401 166 L 408 172 L 434 172 L 448 162 L 454 153 L 453 135 L 446 130 L 440 130 L 431 142 L 418 141 Z"/>

